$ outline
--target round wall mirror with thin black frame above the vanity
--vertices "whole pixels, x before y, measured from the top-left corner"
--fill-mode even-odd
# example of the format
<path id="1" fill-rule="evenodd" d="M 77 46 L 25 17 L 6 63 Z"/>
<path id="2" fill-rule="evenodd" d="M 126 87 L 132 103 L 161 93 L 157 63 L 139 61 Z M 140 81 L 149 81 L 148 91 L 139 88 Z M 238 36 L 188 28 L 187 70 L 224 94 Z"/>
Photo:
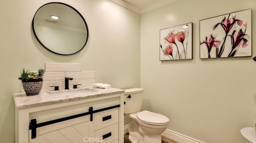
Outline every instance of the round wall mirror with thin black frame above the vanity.
<path id="1" fill-rule="evenodd" d="M 58 55 L 81 51 L 88 40 L 88 26 L 72 6 L 51 2 L 41 6 L 34 15 L 32 28 L 36 39 Z"/>

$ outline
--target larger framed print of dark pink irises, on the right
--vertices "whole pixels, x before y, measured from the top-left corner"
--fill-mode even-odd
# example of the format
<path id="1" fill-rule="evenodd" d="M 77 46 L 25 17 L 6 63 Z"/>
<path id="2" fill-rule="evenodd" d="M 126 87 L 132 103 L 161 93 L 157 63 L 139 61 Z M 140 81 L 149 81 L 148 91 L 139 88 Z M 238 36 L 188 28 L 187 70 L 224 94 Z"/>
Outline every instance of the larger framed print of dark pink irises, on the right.
<path id="1" fill-rule="evenodd" d="M 200 20 L 200 59 L 252 56 L 252 9 Z"/>

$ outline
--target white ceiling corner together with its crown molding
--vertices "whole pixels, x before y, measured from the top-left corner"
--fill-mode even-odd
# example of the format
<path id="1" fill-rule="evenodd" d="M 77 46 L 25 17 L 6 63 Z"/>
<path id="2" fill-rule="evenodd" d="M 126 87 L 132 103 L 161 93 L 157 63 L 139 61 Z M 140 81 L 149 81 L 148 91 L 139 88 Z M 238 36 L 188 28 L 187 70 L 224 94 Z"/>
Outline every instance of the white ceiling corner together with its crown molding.
<path id="1" fill-rule="evenodd" d="M 144 14 L 177 0 L 110 0 L 139 14 Z"/>

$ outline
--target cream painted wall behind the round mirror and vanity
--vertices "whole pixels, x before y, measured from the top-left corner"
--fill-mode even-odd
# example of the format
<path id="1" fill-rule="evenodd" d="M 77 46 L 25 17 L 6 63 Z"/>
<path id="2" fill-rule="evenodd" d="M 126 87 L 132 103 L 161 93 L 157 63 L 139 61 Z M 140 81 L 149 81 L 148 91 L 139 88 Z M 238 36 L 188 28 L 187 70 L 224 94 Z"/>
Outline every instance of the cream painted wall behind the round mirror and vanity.
<path id="1" fill-rule="evenodd" d="M 89 39 L 82 51 L 61 56 L 42 47 L 33 35 L 32 18 L 48 2 L 64 2 L 85 18 Z M 14 143 L 14 101 L 20 69 L 37 71 L 45 62 L 81 63 L 96 71 L 96 82 L 116 88 L 140 86 L 140 15 L 108 0 L 0 1 L 0 142 Z"/>

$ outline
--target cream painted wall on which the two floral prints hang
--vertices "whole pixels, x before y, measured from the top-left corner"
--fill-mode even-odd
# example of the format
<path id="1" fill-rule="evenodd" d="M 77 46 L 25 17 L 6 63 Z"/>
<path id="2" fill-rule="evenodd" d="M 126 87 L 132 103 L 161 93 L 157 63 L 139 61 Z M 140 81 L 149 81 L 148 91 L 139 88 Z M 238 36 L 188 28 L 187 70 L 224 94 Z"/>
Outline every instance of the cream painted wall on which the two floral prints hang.
<path id="1" fill-rule="evenodd" d="M 256 123 L 256 63 L 252 57 L 199 59 L 199 21 L 248 8 L 255 36 L 255 0 L 179 0 L 142 14 L 143 108 L 168 116 L 168 129 L 206 143 L 250 143 L 240 129 Z M 159 30 L 189 22 L 193 60 L 159 61 Z"/>

